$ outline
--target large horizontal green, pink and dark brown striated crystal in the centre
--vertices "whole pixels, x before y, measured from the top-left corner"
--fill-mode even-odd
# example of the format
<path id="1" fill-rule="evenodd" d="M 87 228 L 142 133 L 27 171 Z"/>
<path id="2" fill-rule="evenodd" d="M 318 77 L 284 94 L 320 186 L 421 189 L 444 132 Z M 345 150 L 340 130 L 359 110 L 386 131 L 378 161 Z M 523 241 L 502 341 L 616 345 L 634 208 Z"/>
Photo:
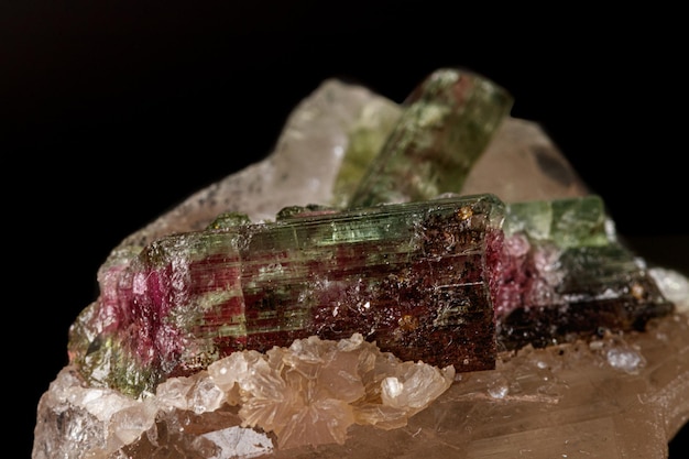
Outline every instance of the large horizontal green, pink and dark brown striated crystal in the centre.
<path id="1" fill-rule="evenodd" d="M 230 216 L 162 238 L 101 272 L 70 362 L 90 384 L 138 395 L 233 351 L 361 332 L 403 360 L 491 369 L 503 218 L 481 195 L 271 223 Z"/>

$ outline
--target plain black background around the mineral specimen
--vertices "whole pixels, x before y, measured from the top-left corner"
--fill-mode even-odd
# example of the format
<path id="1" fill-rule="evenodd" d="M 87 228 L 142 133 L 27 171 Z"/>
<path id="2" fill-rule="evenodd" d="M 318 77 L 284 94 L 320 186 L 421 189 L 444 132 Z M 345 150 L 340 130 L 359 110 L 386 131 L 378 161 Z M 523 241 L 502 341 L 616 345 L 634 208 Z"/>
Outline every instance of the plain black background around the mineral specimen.
<path id="1" fill-rule="evenodd" d="M 483 74 L 512 92 L 513 116 L 544 127 L 634 248 L 688 270 L 679 12 L 236 3 L 0 6 L 6 396 L 21 387 L 26 453 L 109 250 L 267 154 L 329 77 L 403 101 L 436 68 Z"/>

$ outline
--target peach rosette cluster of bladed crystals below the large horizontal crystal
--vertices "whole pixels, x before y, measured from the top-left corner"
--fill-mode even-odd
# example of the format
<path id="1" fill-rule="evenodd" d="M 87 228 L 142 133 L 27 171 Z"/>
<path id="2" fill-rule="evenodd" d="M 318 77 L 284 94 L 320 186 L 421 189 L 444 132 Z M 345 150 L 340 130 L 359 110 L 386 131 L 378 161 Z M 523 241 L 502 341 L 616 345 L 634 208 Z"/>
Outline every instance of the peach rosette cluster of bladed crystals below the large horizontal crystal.
<path id="1" fill-rule="evenodd" d="M 337 342 L 310 336 L 265 354 L 234 352 L 208 373 L 231 394 L 228 403 L 241 405 L 243 425 L 274 431 L 283 449 L 343 444 L 353 424 L 402 427 L 455 376 L 451 365 L 440 370 L 381 353 L 360 334 Z"/>

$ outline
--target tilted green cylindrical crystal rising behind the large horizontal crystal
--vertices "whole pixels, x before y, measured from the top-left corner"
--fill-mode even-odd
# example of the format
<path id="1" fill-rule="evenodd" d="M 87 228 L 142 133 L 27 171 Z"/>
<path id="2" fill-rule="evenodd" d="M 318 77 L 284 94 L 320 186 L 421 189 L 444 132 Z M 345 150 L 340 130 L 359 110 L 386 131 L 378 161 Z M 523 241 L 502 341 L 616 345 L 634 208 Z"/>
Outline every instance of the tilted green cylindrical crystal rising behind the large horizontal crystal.
<path id="1" fill-rule="evenodd" d="M 452 68 L 434 72 L 405 101 L 349 207 L 459 193 L 512 101 L 507 91 L 479 75 Z"/>

